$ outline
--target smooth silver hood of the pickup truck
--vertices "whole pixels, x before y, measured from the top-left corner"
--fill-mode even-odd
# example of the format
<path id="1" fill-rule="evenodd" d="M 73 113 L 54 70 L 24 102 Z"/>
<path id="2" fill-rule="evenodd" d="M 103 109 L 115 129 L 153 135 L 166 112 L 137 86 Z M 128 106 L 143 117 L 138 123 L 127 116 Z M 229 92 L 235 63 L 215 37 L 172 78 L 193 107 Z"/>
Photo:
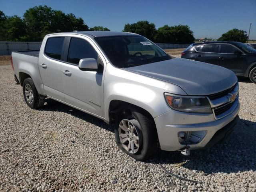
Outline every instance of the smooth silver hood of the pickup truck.
<path id="1" fill-rule="evenodd" d="M 236 75 L 226 68 L 182 58 L 124 69 L 176 84 L 188 95 L 214 94 L 237 82 Z"/>

